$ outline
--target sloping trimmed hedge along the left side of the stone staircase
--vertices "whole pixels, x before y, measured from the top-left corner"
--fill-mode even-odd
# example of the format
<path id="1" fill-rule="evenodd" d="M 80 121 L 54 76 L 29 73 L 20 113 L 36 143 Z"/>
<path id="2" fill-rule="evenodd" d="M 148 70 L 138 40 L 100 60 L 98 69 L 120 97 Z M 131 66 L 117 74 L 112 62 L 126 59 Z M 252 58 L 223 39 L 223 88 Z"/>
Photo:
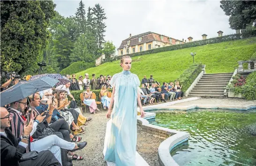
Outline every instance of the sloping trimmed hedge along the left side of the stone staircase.
<path id="1" fill-rule="evenodd" d="M 189 86 L 195 81 L 196 77 L 202 71 L 202 63 L 193 63 L 177 79 L 182 85 L 182 91 L 188 90 Z"/>

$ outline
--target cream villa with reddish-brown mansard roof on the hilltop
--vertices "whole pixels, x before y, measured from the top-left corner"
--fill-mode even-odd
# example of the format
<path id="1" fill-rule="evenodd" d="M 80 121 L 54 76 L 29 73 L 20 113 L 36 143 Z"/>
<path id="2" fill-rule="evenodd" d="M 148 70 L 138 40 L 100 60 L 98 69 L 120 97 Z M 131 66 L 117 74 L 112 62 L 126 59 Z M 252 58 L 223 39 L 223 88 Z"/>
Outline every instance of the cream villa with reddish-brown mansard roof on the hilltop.
<path id="1" fill-rule="evenodd" d="M 184 40 L 180 41 L 154 32 L 146 32 L 135 36 L 130 34 L 128 39 L 122 41 L 117 51 L 118 56 L 121 56 L 183 43 L 185 43 Z"/>

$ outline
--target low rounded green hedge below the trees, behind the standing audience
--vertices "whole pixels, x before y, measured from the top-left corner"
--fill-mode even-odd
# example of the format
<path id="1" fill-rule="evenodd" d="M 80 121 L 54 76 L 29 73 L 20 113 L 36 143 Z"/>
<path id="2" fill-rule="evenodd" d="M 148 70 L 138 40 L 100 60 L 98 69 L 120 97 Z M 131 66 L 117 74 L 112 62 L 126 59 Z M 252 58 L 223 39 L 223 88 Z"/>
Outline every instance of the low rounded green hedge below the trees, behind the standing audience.
<path id="1" fill-rule="evenodd" d="M 88 68 L 92 68 L 95 67 L 94 63 L 88 63 L 88 62 L 74 62 L 71 65 L 69 65 L 67 68 L 63 69 L 60 71 L 60 74 L 62 75 L 66 75 L 66 74 L 75 74 L 78 73 L 80 71 L 86 70 Z"/>

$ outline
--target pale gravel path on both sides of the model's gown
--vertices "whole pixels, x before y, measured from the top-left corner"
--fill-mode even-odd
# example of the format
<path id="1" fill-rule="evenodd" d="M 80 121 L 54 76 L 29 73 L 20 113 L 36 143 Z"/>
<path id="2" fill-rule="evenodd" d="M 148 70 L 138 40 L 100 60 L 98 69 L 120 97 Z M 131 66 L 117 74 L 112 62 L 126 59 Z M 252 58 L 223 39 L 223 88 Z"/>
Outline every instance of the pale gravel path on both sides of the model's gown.
<path id="1" fill-rule="evenodd" d="M 83 160 L 73 161 L 74 166 L 107 166 L 103 158 L 103 146 L 105 129 L 108 119 L 105 118 L 106 111 L 99 111 L 97 114 L 83 113 L 85 117 L 93 120 L 86 126 L 85 133 L 79 135 L 82 141 L 87 141 L 87 145 L 76 154 L 84 157 Z M 138 126 L 137 152 L 147 161 L 150 166 L 158 165 L 158 146 L 163 141 L 142 130 Z"/>

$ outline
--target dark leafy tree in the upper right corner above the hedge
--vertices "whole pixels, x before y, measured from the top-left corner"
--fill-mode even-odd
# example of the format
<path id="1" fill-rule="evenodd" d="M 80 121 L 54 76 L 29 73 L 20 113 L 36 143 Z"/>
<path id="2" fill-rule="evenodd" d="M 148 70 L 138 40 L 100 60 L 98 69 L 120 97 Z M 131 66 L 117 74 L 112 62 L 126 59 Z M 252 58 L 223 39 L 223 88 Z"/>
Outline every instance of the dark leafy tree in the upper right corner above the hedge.
<path id="1" fill-rule="evenodd" d="M 220 7 L 229 16 L 232 29 L 244 29 L 249 24 L 256 23 L 255 0 L 221 0 Z"/>

